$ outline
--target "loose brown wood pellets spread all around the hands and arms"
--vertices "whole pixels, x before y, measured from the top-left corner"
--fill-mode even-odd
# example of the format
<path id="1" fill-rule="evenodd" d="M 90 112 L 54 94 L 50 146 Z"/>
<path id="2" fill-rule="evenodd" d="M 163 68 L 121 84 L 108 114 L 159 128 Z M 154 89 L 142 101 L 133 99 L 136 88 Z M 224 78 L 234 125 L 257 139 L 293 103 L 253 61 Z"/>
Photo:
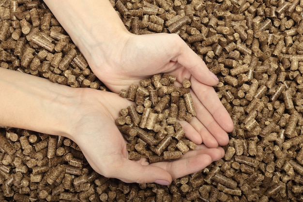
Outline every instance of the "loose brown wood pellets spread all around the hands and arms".
<path id="1" fill-rule="evenodd" d="M 0 201 L 303 202 L 303 0 L 111 3 L 130 32 L 177 33 L 218 76 L 226 155 L 170 186 L 126 184 L 69 139 L 4 127 Z M 42 0 L 0 0 L 0 42 L 1 68 L 106 90 Z"/>

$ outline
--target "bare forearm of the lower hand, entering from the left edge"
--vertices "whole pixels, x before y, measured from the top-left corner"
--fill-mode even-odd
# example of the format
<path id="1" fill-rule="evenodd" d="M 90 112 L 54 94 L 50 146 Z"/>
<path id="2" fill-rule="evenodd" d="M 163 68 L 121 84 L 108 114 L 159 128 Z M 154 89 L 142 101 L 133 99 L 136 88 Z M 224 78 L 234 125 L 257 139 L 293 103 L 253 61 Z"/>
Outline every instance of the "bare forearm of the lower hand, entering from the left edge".
<path id="1" fill-rule="evenodd" d="M 74 90 L 0 68 L 0 125 L 70 137 Z"/>

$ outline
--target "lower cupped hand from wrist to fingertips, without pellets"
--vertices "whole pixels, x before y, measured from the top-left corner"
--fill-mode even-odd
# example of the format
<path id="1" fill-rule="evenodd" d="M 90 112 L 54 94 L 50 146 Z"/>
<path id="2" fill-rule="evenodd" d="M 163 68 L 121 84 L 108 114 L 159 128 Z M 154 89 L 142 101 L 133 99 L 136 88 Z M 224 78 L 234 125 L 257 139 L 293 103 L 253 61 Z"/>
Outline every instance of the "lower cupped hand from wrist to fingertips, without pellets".
<path id="1" fill-rule="evenodd" d="M 118 111 L 132 104 L 116 93 L 81 89 L 82 102 L 77 108 L 72 131 L 74 140 L 92 169 L 126 183 L 158 183 L 168 185 L 173 179 L 203 170 L 212 161 L 222 158 L 222 148 L 198 145 L 182 159 L 150 164 L 146 159 L 127 158 L 126 143 L 115 125 Z M 186 130 L 186 129 L 185 129 Z M 185 131 L 188 132 L 188 131 Z"/>

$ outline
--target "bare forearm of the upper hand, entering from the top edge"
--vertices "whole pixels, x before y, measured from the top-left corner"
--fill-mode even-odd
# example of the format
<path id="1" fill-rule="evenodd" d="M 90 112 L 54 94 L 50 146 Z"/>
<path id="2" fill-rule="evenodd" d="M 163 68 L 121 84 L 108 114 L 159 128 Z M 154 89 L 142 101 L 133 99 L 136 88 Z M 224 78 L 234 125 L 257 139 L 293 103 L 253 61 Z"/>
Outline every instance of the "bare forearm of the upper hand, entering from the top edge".
<path id="1" fill-rule="evenodd" d="M 44 1 L 89 63 L 102 63 L 128 33 L 108 0 Z"/>

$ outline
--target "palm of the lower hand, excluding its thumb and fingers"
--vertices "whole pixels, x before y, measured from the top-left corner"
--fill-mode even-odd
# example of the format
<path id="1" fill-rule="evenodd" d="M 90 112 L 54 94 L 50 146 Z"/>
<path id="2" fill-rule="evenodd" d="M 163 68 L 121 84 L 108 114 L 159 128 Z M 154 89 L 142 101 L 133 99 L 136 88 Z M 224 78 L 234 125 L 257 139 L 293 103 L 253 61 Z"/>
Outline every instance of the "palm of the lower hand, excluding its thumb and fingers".
<path id="1" fill-rule="evenodd" d="M 84 97 L 85 101 L 79 108 L 85 109 L 76 124 L 73 139 L 91 167 L 106 175 L 105 168 L 110 168 L 115 158 L 127 157 L 126 144 L 115 125 L 115 119 L 119 110 L 126 108 L 130 102 L 115 93 L 85 90 L 89 90 L 90 94 Z M 99 96 L 96 97 L 96 93 Z"/>

